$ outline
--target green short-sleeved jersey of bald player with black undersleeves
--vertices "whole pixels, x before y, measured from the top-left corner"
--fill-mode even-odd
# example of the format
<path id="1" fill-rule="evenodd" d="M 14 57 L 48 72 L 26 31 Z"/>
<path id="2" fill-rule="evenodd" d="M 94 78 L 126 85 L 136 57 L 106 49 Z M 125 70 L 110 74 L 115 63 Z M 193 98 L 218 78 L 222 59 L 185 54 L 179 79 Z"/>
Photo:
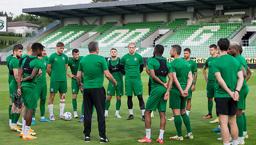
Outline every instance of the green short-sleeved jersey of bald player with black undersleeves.
<path id="1" fill-rule="evenodd" d="M 135 53 L 135 55 L 130 55 L 128 53 L 121 58 L 120 64 L 124 65 L 125 78 L 132 78 L 132 79 L 137 78 L 137 79 L 141 80 L 140 73 L 139 73 L 139 67 L 141 64 L 144 64 L 143 58 L 141 55 L 136 54 L 136 53 Z"/>

